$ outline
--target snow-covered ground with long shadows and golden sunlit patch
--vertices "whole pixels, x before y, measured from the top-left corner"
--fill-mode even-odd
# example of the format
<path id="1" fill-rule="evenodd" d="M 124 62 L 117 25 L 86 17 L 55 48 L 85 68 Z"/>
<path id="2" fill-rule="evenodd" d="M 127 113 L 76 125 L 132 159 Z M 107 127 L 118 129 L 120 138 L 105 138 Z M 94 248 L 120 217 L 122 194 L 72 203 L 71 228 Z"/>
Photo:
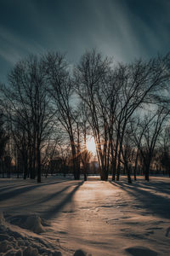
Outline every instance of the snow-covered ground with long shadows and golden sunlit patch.
<path id="1" fill-rule="evenodd" d="M 0 255 L 170 255 L 168 177 L 1 178 L 0 212 Z"/>

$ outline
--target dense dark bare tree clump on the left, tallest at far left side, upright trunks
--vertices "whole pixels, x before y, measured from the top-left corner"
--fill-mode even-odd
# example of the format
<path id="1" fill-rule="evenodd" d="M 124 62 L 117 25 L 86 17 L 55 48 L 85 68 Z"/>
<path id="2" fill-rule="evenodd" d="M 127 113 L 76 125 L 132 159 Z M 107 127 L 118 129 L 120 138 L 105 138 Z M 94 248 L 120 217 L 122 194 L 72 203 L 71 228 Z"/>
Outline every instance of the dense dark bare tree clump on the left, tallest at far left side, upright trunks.
<path id="1" fill-rule="evenodd" d="M 37 172 L 39 183 L 42 142 L 49 135 L 54 116 L 47 94 L 42 59 L 31 55 L 19 61 L 8 74 L 8 83 L 1 86 L 1 91 L 6 113 L 12 124 L 14 141 L 22 142 L 21 147 L 19 148 L 19 143 L 17 147 L 25 155 L 26 166 L 29 163 L 31 177 L 35 177 Z"/>

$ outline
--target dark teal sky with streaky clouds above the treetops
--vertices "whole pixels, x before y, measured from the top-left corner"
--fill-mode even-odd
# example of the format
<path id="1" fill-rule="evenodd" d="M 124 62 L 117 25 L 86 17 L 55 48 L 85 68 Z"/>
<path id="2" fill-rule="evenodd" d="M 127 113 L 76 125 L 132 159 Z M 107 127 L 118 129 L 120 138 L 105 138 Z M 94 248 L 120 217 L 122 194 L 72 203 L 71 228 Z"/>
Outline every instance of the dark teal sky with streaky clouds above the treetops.
<path id="1" fill-rule="evenodd" d="M 47 50 L 71 63 L 93 48 L 125 62 L 166 54 L 169 14 L 169 0 L 0 0 L 0 81 Z"/>

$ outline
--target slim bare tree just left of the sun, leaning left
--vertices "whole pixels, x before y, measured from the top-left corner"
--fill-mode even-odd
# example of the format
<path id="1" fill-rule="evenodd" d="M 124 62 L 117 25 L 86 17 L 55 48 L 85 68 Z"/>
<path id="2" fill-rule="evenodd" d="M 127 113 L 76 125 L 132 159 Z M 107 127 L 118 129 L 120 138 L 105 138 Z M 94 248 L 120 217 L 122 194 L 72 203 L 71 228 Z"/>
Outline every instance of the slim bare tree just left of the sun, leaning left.
<path id="1" fill-rule="evenodd" d="M 69 137 L 72 154 L 74 178 L 80 178 L 80 161 L 78 146 L 77 113 L 74 110 L 73 82 L 65 56 L 59 53 L 48 53 L 44 56 L 44 65 L 48 79 L 48 93 L 56 110 L 59 123 Z"/>

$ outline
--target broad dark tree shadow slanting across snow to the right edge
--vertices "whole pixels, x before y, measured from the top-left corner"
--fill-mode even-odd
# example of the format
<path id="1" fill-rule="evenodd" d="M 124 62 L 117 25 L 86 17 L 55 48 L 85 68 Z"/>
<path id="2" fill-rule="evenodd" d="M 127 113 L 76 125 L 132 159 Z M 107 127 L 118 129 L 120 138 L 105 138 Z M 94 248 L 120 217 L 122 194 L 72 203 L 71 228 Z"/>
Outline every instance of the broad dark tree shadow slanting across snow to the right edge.
<path id="1" fill-rule="evenodd" d="M 139 187 L 138 183 L 110 183 L 113 186 L 120 187 L 120 189 L 126 191 L 127 194 L 133 195 L 134 202 L 139 201 L 141 207 L 147 211 L 146 214 L 150 214 L 150 212 L 152 212 L 161 218 L 170 218 L 170 200 L 165 196 L 156 195 L 153 191 L 144 190 L 145 187 L 142 187 L 141 183 Z M 167 195 L 169 195 L 169 193 L 167 193 Z M 136 208 L 134 208 L 134 211 L 135 210 Z"/>

